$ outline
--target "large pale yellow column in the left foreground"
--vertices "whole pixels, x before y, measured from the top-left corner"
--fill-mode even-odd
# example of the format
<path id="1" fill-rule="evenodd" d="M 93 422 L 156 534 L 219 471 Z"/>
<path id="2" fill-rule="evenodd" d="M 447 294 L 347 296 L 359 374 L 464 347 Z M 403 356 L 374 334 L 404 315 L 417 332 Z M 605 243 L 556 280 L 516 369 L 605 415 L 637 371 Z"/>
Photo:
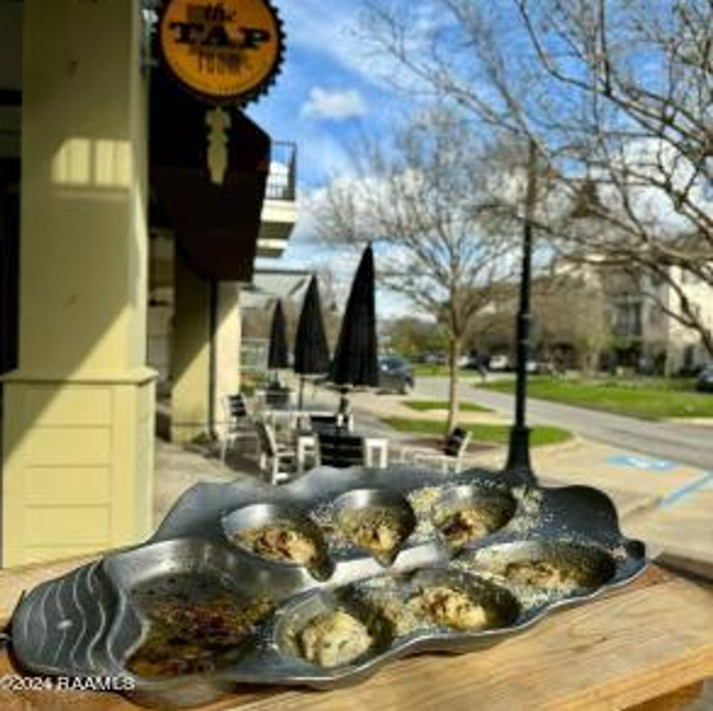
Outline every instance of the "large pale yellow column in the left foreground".
<path id="1" fill-rule="evenodd" d="M 3 565 L 152 530 L 139 0 L 24 3 L 19 369 Z"/>

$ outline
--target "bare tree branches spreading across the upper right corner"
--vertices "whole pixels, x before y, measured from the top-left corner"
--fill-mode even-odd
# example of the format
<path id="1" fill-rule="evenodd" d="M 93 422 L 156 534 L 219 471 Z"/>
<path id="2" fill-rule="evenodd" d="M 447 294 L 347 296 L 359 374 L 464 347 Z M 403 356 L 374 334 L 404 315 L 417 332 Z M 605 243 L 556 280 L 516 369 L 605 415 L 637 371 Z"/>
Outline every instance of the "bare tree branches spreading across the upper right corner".
<path id="1" fill-rule="evenodd" d="M 664 281 L 661 307 L 713 356 L 679 279 L 713 287 L 711 0 L 367 0 L 363 38 L 401 88 L 500 145 L 533 139 L 559 207 L 535 213 L 540 234 Z M 494 193 L 495 212 L 521 218 L 508 196 Z"/>

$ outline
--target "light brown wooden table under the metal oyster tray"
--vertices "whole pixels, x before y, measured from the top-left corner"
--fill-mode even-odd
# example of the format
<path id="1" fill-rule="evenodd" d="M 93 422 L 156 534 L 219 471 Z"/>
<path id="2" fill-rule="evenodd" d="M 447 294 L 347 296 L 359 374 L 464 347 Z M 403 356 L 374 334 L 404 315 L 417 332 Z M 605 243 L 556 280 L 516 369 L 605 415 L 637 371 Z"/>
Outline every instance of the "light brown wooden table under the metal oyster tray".
<path id="1" fill-rule="evenodd" d="M 82 561 L 83 562 L 83 561 Z M 78 564 L 0 573 L 0 618 L 23 587 Z M 1 674 L 16 674 L 7 654 Z M 674 711 L 713 676 L 713 594 L 650 567 L 485 652 L 396 662 L 349 689 L 240 688 L 203 711 Z M 131 711 L 120 696 L 0 690 L 2 711 Z"/>

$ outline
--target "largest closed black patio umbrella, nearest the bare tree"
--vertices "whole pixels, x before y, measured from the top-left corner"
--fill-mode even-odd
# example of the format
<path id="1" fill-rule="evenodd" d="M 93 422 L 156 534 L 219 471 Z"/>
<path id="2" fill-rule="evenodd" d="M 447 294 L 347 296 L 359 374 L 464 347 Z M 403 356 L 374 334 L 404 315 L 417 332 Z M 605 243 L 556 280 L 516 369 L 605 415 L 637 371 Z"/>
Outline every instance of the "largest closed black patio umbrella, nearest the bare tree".
<path id="1" fill-rule="evenodd" d="M 330 380 L 341 387 L 343 414 L 349 409 L 346 394 L 350 388 L 378 385 L 374 302 L 374 252 L 369 245 L 354 275 L 331 364 Z"/>

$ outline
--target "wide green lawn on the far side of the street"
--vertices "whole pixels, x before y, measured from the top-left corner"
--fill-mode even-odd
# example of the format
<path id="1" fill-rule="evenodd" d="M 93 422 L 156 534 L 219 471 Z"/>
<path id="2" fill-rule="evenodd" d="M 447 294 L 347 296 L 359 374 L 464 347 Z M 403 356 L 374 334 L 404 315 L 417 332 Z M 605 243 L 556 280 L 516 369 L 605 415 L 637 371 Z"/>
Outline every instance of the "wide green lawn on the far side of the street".
<path id="1" fill-rule="evenodd" d="M 512 393 L 514 381 L 480 385 Z M 693 382 L 681 379 L 591 379 L 562 380 L 533 377 L 528 388 L 534 398 L 576 405 L 589 409 L 630 415 L 642 419 L 669 417 L 713 417 L 713 396 L 697 393 Z"/>

